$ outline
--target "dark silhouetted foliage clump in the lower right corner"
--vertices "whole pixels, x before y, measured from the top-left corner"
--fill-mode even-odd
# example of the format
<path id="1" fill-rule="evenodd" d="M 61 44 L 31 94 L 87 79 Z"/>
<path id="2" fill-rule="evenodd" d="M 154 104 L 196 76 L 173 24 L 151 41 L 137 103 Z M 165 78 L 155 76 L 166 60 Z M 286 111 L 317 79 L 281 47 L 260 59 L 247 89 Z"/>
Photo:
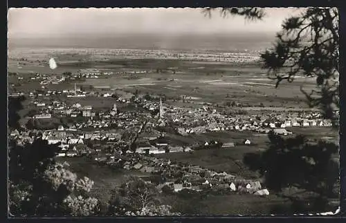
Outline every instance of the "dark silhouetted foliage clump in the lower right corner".
<path id="1" fill-rule="evenodd" d="M 333 154 L 338 152 L 338 145 L 325 141 L 311 143 L 302 135 L 283 139 L 273 132 L 268 133 L 268 139 L 268 149 L 262 153 L 246 154 L 244 163 L 251 170 L 260 172 L 270 190 L 282 193 L 284 188 L 293 187 L 312 193 L 314 196 L 309 198 L 310 201 L 316 197 L 319 202 L 324 201 L 315 208 L 326 211 L 327 199 L 338 195 L 335 191 L 338 186 L 338 163 L 332 159 Z M 294 202 L 307 203 L 292 195 L 285 196 Z"/>

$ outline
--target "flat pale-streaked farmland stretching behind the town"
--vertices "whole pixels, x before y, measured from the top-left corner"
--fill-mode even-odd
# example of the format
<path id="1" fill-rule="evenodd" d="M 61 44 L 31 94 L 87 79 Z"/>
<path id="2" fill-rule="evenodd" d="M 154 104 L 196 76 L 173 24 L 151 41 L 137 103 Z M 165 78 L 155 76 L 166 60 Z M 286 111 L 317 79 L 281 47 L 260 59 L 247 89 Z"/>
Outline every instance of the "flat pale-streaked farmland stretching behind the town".
<path id="1" fill-rule="evenodd" d="M 18 71 L 17 62 L 9 62 L 10 72 L 19 73 L 52 73 L 61 74 L 81 69 L 97 68 L 100 71 L 150 71 L 153 73 L 113 75 L 111 78 L 87 79 L 84 84 L 97 86 L 111 86 L 124 90 L 140 90 L 142 93 L 165 94 L 166 96 L 187 95 L 199 98 L 197 102 L 227 102 L 237 100 L 249 105 L 266 107 L 307 107 L 304 97 L 300 92 L 300 85 L 304 89 L 313 89 L 315 82 L 304 78 L 296 78 L 293 83 L 282 82 L 275 89 L 275 82 L 266 78 L 266 70 L 260 64 L 234 64 L 234 63 L 210 63 L 188 62 L 181 60 L 154 60 L 154 59 L 116 59 L 108 55 L 98 60 L 93 55 L 73 55 L 62 52 L 48 53 L 30 52 L 28 60 L 46 60 L 48 56 L 58 58 L 57 69 L 49 71 L 47 66 L 34 66 L 26 62 Z M 25 55 L 23 55 L 25 57 Z M 77 58 L 78 57 L 78 58 Z M 78 60 L 77 60 L 78 59 Z M 239 66 L 242 65 L 242 66 Z M 163 73 L 156 73 L 156 69 Z M 175 72 L 175 73 L 174 73 Z M 136 78 L 131 79 L 129 76 Z M 35 88 L 31 84 L 30 89 Z M 58 86 L 50 86 L 58 87 Z M 71 86 L 65 86 L 71 87 Z"/>

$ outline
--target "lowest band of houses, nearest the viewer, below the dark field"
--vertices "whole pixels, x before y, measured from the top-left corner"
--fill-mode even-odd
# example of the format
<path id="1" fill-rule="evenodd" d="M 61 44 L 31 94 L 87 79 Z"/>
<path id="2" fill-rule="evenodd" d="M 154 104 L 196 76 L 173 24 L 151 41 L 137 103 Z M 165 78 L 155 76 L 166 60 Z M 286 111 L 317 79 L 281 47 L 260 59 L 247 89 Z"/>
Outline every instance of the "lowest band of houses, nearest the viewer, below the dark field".
<path id="1" fill-rule="evenodd" d="M 177 163 L 170 160 L 158 159 L 157 157 L 147 157 L 140 154 L 127 154 L 127 157 L 113 157 L 112 160 L 95 159 L 107 165 L 126 170 L 135 170 L 142 172 L 143 177 L 159 176 L 160 181 L 156 186 L 163 191 L 164 187 L 169 188 L 175 193 L 181 190 L 222 190 L 228 192 L 251 193 L 254 195 L 269 195 L 267 189 L 262 188 L 260 181 L 240 179 L 227 172 L 216 172 L 201 168 L 199 166 L 190 166 L 186 163 Z"/>

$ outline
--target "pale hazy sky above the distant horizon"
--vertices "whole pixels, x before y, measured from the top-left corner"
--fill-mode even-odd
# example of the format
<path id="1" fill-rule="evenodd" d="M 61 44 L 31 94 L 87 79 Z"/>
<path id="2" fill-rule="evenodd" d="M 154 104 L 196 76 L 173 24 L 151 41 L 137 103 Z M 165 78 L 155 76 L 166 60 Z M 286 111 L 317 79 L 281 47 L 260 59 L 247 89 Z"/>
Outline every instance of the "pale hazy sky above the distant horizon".
<path id="1" fill-rule="evenodd" d="M 11 8 L 8 12 L 9 37 L 64 37 L 83 34 L 162 35 L 213 33 L 275 33 L 282 21 L 299 12 L 297 8 L 265 8 L 263 21 L 244 17 L 224 19 L 215 11 L 204 17 L 201 8 Z"/>

